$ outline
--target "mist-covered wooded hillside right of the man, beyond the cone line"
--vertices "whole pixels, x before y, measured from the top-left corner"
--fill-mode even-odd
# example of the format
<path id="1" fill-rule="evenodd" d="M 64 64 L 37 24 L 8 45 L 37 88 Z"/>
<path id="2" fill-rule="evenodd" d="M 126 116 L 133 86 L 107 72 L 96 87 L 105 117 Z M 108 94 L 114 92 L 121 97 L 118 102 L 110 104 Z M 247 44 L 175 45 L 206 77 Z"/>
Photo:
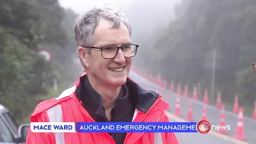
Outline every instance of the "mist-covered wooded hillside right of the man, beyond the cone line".
<path id="1" fill-rule="evenodd" d="M 238 94 L 243 105 L 253 105 L 256 75 L 251 62 L 256 61 L 256 2 L 182 2 L 175 7 L 177 19 L 155 31 L 140 46 L 144 50 L 138 53 L 137 65 L 155 75 L 160 73 L 168 82 L 190 86 L 201 82 L 210 90 L 216 49 L 216 91 L 222 91 L 224 101 L 229 103 Z"/>

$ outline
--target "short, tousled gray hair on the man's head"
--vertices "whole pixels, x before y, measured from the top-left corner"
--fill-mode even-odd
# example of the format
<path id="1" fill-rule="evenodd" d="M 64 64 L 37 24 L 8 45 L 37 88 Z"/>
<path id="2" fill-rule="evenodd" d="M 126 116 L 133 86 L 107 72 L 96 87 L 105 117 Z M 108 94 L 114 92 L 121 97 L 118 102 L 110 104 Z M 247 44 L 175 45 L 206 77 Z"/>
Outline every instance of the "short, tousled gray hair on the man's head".
<path id="1" fill-rule="evenodd" d="M 123 23 L 129 30 L 130 36 L 132 28 L 126 18 L 120 11 L 114 11 L 111 8 L 92 8 L 85 14 L 81 14 L 75 19 L 75 40 L 77 46 L 93 46 L 94 44 L 94 30 L 104 18 L 107 21 L 113 22 L 111 28 L 119 28 Z"/>

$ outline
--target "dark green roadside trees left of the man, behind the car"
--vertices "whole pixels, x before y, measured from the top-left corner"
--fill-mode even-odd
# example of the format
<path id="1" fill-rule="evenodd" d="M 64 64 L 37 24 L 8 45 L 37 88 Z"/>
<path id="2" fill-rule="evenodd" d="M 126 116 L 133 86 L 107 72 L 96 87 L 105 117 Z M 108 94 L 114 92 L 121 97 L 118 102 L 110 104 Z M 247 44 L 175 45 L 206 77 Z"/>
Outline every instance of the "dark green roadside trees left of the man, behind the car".
<path id="1" fill-rule="evenodd" d="M 1 2 L 0 104 L 19 122 L 32 113 L 43 95 L 49 95 L 54 78 L 65 88 L 78 77 L 73 62 L 75 17 L 74 11 L 63 9 L 56 0 Z M 40 49 L 50 51 L 50 62 L 37 55 Z"/>

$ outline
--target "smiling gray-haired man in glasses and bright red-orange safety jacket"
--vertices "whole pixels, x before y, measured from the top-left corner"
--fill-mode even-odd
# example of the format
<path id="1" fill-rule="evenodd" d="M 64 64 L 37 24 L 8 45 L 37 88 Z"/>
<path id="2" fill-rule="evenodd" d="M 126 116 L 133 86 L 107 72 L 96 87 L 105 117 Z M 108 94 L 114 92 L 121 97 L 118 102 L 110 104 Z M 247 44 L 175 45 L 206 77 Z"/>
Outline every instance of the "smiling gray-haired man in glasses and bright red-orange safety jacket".
<path id="1" fill-rule="evenodd" d="M 37 105 L 31 122 L 167 122 L 168 104 L 128 74 L 139 45 L 131 27 L 110 8 L 75 21 L 78 56 L 86 73 L 58 98 Z M 27 144 L 178 144 L 174 133 L 28 133 Z"/>

